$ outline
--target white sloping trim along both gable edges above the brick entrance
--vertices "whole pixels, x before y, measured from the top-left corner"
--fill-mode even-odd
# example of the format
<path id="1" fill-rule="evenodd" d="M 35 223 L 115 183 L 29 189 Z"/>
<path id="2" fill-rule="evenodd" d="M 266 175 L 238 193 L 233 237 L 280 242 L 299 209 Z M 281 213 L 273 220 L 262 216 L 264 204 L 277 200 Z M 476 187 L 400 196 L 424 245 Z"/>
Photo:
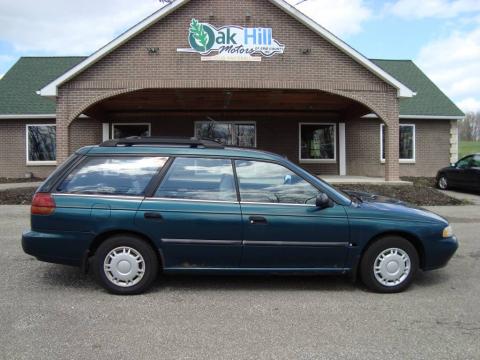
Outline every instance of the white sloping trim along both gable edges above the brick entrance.
<path id="1" fill-rule="evenodd" d="M 124 43 L 138 35 L 139 33 L 143 32 L 144 30 L 148 29 L 150 26 L 158 22 L 159 20 L 163 19 L 164 17 L 170 15 L 173 13 L 175 10 L 178 8 L 182 7 L 186 3 L 188 3 L 190 0 L 176 0 L 170 3 L 169 5 L 164 6 L 160 10 L 156 11 L 134 27 L 130 28 L 126 32 L 124 32 L 122 35 L 117 37 L 115 40 L 112 42 L 108 43 L 105 45 L 103 48 L 99 49 L 95 53 L 93 53 L 91 56 L 86 58 L 84 61 L 79 63 L 77 66 L 73 67 L 69 71 L 67 71 L 65 74 L 60 76 L 59 78 L 55 79 L 48 85 L 46 85 L 44 88 L 42 88 L 40 91 L 37 93 L 41 96 L 46 96 L 46 97 L 56 97 L 58 94 L 58 88 L 64 84 L 65 82 L 73 79 L 75 76 L 104 58 L 106 55 L 114 51 L 115 49 L 119 48 L 122 46 Z M 300 23 L 317 33 L 319 36 L 324 38 L 326 41 L 331 43 L 333 46 L 335 46 L 337 49 L 345 53 L 346 55 L 350 56 L 353 60 L 355 60 L 357 63 L 360 65 L 364 66 L 366 69 L 371 71 L 373 74 L 381 78 L 383 81 L 386 83 L 390 84 L 394 88 L 397 89 L 398 91 L 398 97 L 399 98 L 411 98 L 415 96 L 416 94 L 410 90 L 407 86 L 402 84 L 400 81 L 395 79 L 393 76 L 388 74 L 386 71 L 381 69 L 379 66 L 374 64 L 371 60 L 367 59 L 365 56 L 360 54 L 358 51 L 350 47 L 348 44 L 346 44 L 344 41 L 339 39 L 337 36 L 332 34 L 330 31 L 313 21 L 311 18 L 306 16 L 304 13 L 301 11 L 297 10 L 294 6 L 290 5 L 287 3 L 285 0 L 268 0 L 272 4 L 276 5 L 279 7 L 281 10 L 298 20 Z"/>

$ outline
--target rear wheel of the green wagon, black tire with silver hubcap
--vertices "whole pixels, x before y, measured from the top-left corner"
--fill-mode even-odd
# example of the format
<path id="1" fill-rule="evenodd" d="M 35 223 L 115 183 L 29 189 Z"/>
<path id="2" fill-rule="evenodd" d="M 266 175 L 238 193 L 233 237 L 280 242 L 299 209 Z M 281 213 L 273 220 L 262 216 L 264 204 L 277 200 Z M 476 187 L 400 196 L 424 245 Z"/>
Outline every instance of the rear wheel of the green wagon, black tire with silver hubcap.
<path id="1" fill-rule="evenodd" d="M 95 276 L 107 291 L 136 295 L 157 278 L 159 261 L 154 249 L 133 235 L 116 235 L 98 247 L 93 258 Z"/>

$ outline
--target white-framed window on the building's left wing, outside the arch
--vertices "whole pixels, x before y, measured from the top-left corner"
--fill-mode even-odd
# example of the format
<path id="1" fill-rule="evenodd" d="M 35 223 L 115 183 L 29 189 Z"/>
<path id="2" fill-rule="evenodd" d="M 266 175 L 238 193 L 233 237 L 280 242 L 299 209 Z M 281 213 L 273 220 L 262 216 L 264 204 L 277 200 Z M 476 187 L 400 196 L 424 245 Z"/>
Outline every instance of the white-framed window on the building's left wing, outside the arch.
<path id="1" fill-rule="evenodd" d="M 27 125 L 27 165 L 55 165 L 56 154 L 56 126 Z"/>

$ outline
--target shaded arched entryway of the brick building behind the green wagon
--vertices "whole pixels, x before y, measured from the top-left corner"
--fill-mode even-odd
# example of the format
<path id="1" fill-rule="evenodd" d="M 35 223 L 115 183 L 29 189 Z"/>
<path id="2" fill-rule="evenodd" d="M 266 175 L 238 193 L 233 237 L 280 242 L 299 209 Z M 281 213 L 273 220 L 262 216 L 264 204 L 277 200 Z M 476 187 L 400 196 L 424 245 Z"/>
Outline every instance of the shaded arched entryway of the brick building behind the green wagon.
<path id="1" fill-rule="evenodd" d="M 396 180 L 398 164 L 392 165 L 390 160 L 395 158 L 392 141 L 397 142 L 398 150 L 398 118 L 395 122 L 394 117 L 360 99 L 317 90 L 121 90 L 78 107 L 68 120 L 68 152 L 87 145 L 79 133 L 88 124 L 95 128 L 90 132 L 95 139 L 88 137 L 88 143 L 130 135 L 214 137 L 229 145 L 282 154 L 319 175 L 357 175 L 352 173 L 358 169 L 352 166 L 355 155 L 364 148 L 362 141 L 372 139 L 370 133 L 359 130 L 353 134 L 349 127 L 365 121 L 364 115 L 376 113 L 379 119 L 386 119 L 389 129 L 386 161 L 384 165 L 378 161 L 379 168 L 384 169 L 387 180 Z M 357 138 L 349 142 L 352 136 Z"/>

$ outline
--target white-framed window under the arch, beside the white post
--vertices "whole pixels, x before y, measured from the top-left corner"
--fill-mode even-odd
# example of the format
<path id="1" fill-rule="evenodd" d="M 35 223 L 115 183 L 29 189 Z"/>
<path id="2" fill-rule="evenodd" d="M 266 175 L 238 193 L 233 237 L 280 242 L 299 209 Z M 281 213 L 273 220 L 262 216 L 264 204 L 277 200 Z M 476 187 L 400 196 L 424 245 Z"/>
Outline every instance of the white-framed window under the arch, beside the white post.
<path id="1" fill-rule="evenodd" d="M 300 124 L 300 161 L 336 162 L 336 124 Z"/>

